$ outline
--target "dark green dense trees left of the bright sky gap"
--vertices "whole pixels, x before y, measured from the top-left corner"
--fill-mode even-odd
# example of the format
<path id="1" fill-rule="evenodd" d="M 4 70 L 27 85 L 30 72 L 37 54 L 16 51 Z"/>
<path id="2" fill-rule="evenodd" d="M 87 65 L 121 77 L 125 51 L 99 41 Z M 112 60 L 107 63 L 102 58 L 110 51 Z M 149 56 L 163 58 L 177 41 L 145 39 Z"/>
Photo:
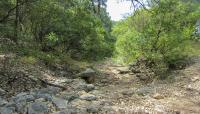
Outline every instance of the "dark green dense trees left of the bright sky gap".
<path id="1" fill-rule="evenodd" d="M 68 53 L 76 59 L 110 56 L 114 40 L 105 2 L 1 0 L 0 37 L 11 38 L 18 48 Z"/>

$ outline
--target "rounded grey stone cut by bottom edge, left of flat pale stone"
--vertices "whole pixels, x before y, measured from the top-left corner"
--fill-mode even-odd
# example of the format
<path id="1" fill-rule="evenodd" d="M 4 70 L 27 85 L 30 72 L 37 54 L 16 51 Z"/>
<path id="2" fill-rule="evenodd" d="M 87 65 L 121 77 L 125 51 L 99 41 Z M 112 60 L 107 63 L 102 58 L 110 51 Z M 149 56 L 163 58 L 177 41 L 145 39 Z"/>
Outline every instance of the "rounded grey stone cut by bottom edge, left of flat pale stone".
<path id="1" fill-rule="evenodd" d="M 28 114 L 46 114 L 48 106 L 44 102 L 35 102 L 28 107 Z"/>

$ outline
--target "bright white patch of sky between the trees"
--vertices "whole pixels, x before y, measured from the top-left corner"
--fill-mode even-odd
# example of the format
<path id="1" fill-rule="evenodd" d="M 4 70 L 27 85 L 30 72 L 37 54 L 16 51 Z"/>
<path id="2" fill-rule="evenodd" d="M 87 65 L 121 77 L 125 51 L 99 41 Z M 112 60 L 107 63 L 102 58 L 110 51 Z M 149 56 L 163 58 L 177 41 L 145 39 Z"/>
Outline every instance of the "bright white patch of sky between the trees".
<path id="1" fill-rule="evenodd" d="M 133 10 L 131 9 L 130 1 L 121 2 L 120 0 L 108 0 L 107 11 L 112 20 L 119 21 Z"/>

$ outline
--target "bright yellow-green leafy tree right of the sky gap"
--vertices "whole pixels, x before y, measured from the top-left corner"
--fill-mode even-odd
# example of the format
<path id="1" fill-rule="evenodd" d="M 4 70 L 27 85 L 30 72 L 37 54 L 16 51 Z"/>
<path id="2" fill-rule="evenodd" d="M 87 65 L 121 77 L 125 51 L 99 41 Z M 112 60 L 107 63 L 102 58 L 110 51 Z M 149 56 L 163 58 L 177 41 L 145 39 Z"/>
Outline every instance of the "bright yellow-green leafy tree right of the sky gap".
<path id="1" fill-rule="evenodd" d="M 130 63 L 138 57 L 170 66 L 188 54 L 200 14 L 199 2 L 160 0 L 140 8 L 117 23 L 117 60 Z"/>

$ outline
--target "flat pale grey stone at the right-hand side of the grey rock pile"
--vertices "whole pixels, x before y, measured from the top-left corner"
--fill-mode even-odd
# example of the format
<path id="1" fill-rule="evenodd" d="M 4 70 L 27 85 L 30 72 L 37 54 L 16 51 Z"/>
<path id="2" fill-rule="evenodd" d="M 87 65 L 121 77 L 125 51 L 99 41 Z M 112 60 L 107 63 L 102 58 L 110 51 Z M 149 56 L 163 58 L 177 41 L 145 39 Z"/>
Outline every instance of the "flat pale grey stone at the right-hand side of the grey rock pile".
<path id="1" fill-rule="evenodd" d="M 52 102 L 58 109 L 65 109 L 68 107 L 68 101 L 61 99 L 61 98 L 54 97 L 52 99 Z"/>

